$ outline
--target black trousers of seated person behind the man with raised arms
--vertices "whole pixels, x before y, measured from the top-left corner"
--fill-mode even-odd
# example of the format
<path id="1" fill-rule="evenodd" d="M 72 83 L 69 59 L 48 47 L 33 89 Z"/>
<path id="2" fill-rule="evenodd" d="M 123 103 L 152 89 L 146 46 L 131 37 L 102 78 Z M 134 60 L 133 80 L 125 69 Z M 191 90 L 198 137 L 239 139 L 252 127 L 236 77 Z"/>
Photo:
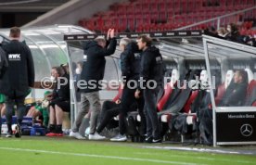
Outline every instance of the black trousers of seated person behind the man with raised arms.
<path id="1" fill-rule="evenodd" d="M 100 123 L 96 129 L 96 133 L 101 133 L 102 130 L 109 124 L 109 121 L 116 117 L 120 110 L 120 104 L 113 101 L 105 101 L 100 112 Z"/>

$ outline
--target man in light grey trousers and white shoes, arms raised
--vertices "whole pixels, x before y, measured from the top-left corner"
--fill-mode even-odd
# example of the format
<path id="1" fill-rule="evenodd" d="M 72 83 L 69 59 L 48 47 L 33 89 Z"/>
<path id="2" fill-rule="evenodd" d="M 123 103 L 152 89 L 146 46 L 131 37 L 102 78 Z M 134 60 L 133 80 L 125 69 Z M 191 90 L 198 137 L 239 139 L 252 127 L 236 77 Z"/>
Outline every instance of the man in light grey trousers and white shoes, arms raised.
<path id="1" fill-rule="evenodd" d="M 83 46 L 83 70 L 81 73 L 81 80 L 85 81 L 86 87 L 81 88 L 81 109 L 78 112 L 74 126 L 70 136 L 77 139 L 83 139 L 83 136 L 78 133 L 79 127 L 83 121 L 83 117 L 91 111 L 90 117 L 90 140 L 105 139 L 104 136 L 96 133 L 96 123 L 100 112 L 99 94 L 101 84 L 104 76 L 106 59 L 105 57 L 115 53 L 117 41 L 114 38 L 114 30 L 109 30 L 109 47 L 106 49 L 107 42 L 104 38 L 96 38 L 94 41 L 86 42 Z"/>

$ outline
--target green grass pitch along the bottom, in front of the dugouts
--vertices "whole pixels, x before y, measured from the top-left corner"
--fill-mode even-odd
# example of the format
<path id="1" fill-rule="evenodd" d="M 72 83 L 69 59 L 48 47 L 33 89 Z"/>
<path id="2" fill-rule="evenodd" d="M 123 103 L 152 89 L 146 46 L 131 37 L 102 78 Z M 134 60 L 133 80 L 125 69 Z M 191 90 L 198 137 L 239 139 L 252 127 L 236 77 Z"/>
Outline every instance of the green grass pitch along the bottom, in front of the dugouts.
<path id="1" fill-rule="evenodd" d="M 0 164 L 10 165 L 157 165 L 157 164 L 256 164 L 256 156 L 212 154 L 144 148 L 136 143 L 75 140 L 71 138 L 0 138 Z M 13 148 L 16 148 L 14 150 Z M 29 149 L 29 150 L 28 150 Z M 25 151 L 24 151 L 25 150 Z M 49 153 L 49 152 L 52 153 Z M 81 154 L 81 155 L 79 155 Z M 107 156 L 102 158 L 102 156 Z"/>

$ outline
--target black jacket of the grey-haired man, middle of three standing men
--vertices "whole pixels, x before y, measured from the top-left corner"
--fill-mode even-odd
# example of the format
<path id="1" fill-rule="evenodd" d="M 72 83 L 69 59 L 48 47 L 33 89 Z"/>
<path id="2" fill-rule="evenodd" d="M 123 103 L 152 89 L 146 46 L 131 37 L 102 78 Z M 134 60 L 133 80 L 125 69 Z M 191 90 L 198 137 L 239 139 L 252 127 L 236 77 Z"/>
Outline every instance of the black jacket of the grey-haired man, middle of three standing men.
<path id="1" fill-rule="evenodd" d="M 121 70 L 122 77 L 125 80 L 137 80 L 139 77 L 141 51 L 138 50 L 136 43 L 127 44 L 125 50 L 121 54 Z"/>

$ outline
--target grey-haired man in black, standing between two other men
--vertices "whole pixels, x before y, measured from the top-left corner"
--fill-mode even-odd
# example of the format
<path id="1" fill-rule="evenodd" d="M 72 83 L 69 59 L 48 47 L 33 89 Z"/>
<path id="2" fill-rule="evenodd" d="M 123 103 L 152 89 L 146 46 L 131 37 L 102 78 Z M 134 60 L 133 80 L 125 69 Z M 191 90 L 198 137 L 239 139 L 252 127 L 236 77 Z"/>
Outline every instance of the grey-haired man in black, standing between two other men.
<path id="1" fill-rule="evenodd" d="M 142 96 L 137 99 L 134 97 L 134 92 L 136 90 L 136 82 L 139 79 L 139 70 L 140 70 L 140 53 L 138 46 L 135 42 L 132 42 L 129 38 L 122 38 L 120 41 L 120 48 L 122 50 L 121 54 L 121 70 L 122 78 L 125 81 L 122 91 L 122 102 L 120 106 L 120 115 L 119 115 L 119 129 L 120 133 L 111 138 L 111 141 L 126 141 L 126 117 L 127 112 L 134 110 L 131 108 L 131 105 L 136 104 L 138 112 L 141 116 L 141 126 L 140 134 L 144 135 L 146 133 L 146 118 L 143 112 L 144 108 L 144 99 Z M 134 82 L 134 83 L 133 83 Z"/>

